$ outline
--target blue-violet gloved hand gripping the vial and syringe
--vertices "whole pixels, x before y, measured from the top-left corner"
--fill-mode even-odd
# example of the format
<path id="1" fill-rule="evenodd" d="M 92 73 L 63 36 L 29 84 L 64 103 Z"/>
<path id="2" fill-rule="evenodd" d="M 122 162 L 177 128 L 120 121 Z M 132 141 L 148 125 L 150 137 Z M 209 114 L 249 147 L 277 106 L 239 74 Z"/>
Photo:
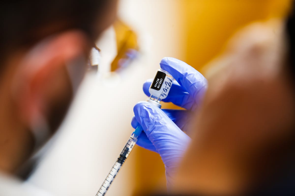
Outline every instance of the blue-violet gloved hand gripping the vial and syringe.
<path id="1" fill-rule="evenodd" d="M 138 137 L 137 145 L 160 154 L 166 169 L 167 185 L 186 150 L 190 138 L 181 129 L 185 129 L 187 115 L 195 110 L 207 89 L 207 80 L 188 64 L 175 59 L 163 58 L 160 67 L 168 71 L 176 81 L 165 102 L 172 102 L 186 110 L 161 110 L 142 101 L 134 106 L 131 125 L 141 125 L 144 132 Z M 148 88 L 152 80 L 143 85 L 143 91 L 150 96 Z"/>

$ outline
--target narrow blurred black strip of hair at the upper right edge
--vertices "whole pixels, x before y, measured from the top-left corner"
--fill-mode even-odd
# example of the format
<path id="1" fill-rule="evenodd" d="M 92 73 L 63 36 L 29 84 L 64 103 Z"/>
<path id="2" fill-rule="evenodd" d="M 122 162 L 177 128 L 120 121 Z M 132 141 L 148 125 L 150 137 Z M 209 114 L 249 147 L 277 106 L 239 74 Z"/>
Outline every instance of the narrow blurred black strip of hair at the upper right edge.
<path id="1" fill-rule="evenodd" d="M 286 35 L 289 49 L 289 66 L 291 71 L 291 78 L 295 82 L 295 1 L 293 1 L 292 12 L 287 19 L 286 23 Z"/>

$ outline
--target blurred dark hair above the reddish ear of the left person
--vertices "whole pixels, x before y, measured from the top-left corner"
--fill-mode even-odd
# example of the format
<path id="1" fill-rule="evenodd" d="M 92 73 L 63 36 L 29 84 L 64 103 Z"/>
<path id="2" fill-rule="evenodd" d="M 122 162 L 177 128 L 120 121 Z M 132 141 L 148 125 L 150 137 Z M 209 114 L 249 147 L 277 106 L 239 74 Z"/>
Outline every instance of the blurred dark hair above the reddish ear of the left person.
<path id="1" fill-rule="evenodd" d="M 50 34 L 67 29 L 81 29 L 93 38 L 94 22 L 108 1 L 0 1 L 0 63 L 15 48 L 30 46 Z"/>

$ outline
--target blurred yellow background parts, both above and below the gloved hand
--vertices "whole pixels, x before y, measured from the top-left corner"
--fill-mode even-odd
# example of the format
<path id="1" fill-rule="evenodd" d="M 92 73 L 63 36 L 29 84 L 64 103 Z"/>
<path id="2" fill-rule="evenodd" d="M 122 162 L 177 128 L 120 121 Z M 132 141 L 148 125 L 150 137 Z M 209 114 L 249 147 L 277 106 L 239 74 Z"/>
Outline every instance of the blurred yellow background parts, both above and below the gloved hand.
<path id="1" fill-rule="evenodd" d="M 174 0 L 173 3 L 177 4 L 178 12 L 172 14 L 179 17 L 177 22 L 182 27 L 179 39 L 184 53 L 179 58 L 202 72 L 209 61 L 222 53 L 237 30 L 253 21 L 285 16 L 290 0 Z M 165 168 L 159 155 L 142 148 L 134 151 L 134 195 L 165 185 Z"/>

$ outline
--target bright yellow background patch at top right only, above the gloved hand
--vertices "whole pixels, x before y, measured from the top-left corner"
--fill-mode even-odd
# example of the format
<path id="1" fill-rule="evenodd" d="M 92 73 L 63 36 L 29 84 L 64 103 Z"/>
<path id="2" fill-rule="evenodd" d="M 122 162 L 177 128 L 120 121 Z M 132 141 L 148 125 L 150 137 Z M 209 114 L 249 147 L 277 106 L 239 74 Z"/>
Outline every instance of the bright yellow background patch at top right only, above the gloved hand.
<path id="1" fill-rule="evenodd" d="M 241 27 L 257 20 L 284 16 L 289 0 L 185 0 L 185 61 L 199 69 L 222 52 L 224 43 Z"/>

